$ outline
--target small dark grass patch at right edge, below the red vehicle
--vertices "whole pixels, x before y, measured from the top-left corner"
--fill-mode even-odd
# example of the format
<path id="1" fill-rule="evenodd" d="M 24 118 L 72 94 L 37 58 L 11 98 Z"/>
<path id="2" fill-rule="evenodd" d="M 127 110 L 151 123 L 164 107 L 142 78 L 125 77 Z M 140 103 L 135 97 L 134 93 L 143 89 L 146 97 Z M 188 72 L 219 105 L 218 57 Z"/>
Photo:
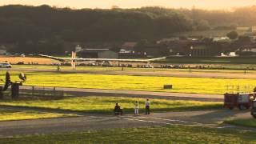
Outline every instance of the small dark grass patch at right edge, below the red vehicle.
<path id="1" fill-rule="evenodd" d="M 227 119 L 225 122 L 229 123 L 231 125 L 237 125 L 237 126 L 256 127 L 256 119 L 255 118 L 250 118 L 250 119 Z"/>

